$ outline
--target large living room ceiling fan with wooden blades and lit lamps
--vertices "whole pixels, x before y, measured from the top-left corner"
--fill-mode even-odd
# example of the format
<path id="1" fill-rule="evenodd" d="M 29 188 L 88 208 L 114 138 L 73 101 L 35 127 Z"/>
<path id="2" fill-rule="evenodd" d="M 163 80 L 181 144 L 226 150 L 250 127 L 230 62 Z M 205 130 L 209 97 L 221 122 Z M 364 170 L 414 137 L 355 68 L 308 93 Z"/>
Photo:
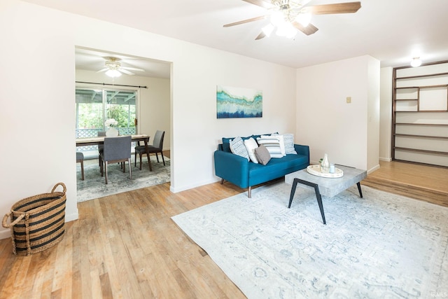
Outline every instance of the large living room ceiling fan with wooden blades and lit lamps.
<path id="1" fill-rule="evenodd" d="M 360 1 L 346 2 L 336 4 L 321 4 L 308 6 L 311 0 L 242 0 L 256 6 L 261 6 L 269 11 L 267 15 L 233 22 L 224 25 L 224 27 L 232 27 L 265 20 L 270 17 L 270 23 L 262 28 L 262 32 L 255 40 L 269 36 L 274 29 L 279 36 L 293 38 L 297 30 L 304 34 L 310 35 L 317 32 L 317 28 L 310 23 L 311 15 L 330 15 L 336 13 L 356 13 L 361 7 Z"/>

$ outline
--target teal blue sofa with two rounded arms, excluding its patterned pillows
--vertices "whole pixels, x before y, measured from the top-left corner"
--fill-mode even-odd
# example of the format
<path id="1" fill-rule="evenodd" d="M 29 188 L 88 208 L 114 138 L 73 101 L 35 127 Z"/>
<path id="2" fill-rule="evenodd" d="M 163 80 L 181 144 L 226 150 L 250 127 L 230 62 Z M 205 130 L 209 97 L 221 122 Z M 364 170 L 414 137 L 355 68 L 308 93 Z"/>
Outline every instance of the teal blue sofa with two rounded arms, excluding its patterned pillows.
<path id="1" fill-rule="evenodd" d="M 256 140 L 256 136 L 254 137 Z M 221 178 L 221 183 L 225 180 L 239 188 L 248 188 L 250 198 L 252 186 L 279 179 L 281 176 L 308 167 L 309 146 L 294 144 L 294 148 L 297 155 L 288 154 L 283 158 L 272 158 L 267 165 L 262 165 L 235 155 L 228 146 L 219 144 L 218 150 L 214 153 L 215 174 Z"/>

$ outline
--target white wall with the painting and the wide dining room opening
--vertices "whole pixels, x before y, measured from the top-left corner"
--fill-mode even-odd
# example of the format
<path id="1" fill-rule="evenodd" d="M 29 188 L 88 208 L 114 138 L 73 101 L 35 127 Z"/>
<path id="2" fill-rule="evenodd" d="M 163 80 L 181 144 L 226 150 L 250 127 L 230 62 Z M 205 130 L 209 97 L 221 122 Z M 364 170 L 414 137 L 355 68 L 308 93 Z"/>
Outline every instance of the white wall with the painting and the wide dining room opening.
<path id="1" fill-rule="evenodd" d="M 295 69 L 18 0 L 0 2 L 0 36 L 0 136 L 8 145 L 0 147 L 0 214 L 62 181 L 66 221 L 78 218 L 76 46 L 173 63 L 175 192 L 218 180 L 213 152 L 221 137 L 295 130 Z M 216 85 L 262 90 L 263 117 L 216 119 Z"/>

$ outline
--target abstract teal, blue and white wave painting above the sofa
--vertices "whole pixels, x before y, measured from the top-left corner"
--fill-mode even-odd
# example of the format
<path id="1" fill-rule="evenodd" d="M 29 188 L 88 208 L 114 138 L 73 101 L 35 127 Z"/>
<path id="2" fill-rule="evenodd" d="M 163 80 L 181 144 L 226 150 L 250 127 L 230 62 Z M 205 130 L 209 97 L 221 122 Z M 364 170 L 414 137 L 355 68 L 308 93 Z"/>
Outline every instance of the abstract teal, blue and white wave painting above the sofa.
<path id="1" fill-rule="evenodd" d="M 216 85 L 217 118 L 260 118 L 262 115 L 261 90 Z"/>

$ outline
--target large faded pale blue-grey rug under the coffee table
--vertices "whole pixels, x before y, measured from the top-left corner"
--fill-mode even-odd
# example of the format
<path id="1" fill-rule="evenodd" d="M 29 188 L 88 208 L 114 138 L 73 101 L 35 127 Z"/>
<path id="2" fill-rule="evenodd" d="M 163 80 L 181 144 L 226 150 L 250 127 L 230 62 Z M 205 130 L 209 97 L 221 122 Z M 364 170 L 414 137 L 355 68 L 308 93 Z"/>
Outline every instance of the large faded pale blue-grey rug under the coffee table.
<path id="1" fill-rule="evenodd" d="M 448 208 L 280 182 L 172 217 L 248 298 L 448 297 Z"/>

